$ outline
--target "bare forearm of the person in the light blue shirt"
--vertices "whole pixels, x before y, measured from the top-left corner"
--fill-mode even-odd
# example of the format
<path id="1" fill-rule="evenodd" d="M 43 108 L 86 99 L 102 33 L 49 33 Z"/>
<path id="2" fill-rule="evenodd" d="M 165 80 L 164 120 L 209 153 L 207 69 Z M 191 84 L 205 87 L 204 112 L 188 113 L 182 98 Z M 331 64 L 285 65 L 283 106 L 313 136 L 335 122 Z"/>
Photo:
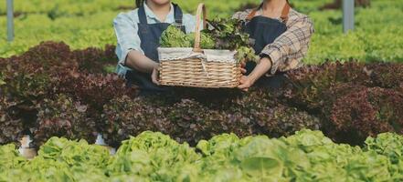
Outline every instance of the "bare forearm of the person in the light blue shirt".
<path id="1" fill-rule="evenodd" d="M 143 73 L 152 73 L 154 67 L 158 66 L 158 63 L 144 56 L 139 51 L 132 50 L 126 57 L 125 66 L 129 66 Z"/>

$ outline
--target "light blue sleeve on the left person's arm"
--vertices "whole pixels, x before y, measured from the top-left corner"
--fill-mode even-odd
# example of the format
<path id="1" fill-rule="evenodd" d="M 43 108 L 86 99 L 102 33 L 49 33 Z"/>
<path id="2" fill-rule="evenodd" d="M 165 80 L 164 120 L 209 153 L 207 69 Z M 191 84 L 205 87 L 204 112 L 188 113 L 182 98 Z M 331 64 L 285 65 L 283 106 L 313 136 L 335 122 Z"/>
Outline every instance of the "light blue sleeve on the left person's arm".
<path id="1" fill-rule="evenodd" d="M 141 40 L 138 32 L 138 25 L 129 13 L 121 13 L 113 20 L 113 27 L 117 38 L 116 55 L 119 64 L 124 65 L 126 56 L 131 50 L 143 53 Z"/>

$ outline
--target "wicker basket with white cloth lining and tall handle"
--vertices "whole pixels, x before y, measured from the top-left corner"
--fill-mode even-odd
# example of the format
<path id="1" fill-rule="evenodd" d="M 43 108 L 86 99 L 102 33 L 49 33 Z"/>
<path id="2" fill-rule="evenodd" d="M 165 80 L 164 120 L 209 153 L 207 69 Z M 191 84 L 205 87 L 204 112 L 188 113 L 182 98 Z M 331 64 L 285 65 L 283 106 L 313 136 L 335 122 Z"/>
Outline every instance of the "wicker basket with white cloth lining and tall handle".
<path id="1" fill-rule="evenodd" d="M 198 5 L 194 47 L 158 48 L 160 84 L 164 86 L 236 87 L 241 76 L 236 52 L 200 48 L 200 21 L 207 27 L 206 7 Z"/>

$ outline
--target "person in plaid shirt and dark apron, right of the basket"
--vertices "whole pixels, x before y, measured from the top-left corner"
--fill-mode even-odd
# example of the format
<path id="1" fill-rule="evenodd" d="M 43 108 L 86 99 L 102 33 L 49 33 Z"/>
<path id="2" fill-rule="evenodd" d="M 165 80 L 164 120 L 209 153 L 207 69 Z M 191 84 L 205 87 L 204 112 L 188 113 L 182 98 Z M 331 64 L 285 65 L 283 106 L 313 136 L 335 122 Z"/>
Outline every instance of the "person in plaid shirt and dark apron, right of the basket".
<path id="1" fill-rule="evenodd" d="M 301 67 L 313 35 L 313 22 L 290 7 L 288 0 L 263 0 L 256 9 L 238 12 L 233 18 L 246 21 L 253 48 L 260 62 L 247 63 L 246 76 L 239 88 L 250 86 L 278 88 L 285 81 L 284 72 Z"/>

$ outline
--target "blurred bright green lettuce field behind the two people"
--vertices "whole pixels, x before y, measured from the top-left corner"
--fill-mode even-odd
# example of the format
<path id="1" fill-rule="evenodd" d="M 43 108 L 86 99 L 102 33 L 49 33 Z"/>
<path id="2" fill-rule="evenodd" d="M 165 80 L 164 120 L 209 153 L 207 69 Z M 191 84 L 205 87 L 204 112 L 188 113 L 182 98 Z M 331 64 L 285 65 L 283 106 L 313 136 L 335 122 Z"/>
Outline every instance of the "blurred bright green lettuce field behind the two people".
<path id="1" fill-rule="evenodd" d="M 319 7 L 332 1 L 295 1 L 297 10 L 313 18 L 316 33 L 310 52 L 305 58 L 309 64 L 323 63 L 324 60 L 358 59 L 362 61 L 403 61 L 403 34 L 399 27 L 403 22 L 400 1 L 372 0 L 366 8 L 355 11 L 355 32 L 342 34 L 342 12 L 340 10 L 319 11 Z M 194 12 L 198 1 L 176 1 L 187 12 Z M 240 6 L 256 1 L 217 2 L 204 1 L 210 17 L 230 17 Z M 3 6 L 2 6 L 3 7 Z M 5 6 L 4 6 L 5 7 Z M 3 8 L 4 8 L 3 7 Z M 75 49 L 90 46 L 115 45 L 116 38 L 112 19 L 122 11 L 133 9 L 133 1 L 58 0 L 52 3 L 37 1 L 16 2 L 16 40 L 7 43 L 0 39 L 0 57 L 19 55 L 41 41 L 64 41 Z M 5 9 L 0 9 L 4 13 Z M 374 16 L 376 15 L 376 16 Z M 1 15 L 5 17 L 5 15 Z M 396 18 L 394 18 L 396 17 Z M 0 18 L 5 24 L 5 18 Z M 68 26 L 66 26 L 68 25 Z M 5 32 L 0 26 L 0 32 Z"/>

